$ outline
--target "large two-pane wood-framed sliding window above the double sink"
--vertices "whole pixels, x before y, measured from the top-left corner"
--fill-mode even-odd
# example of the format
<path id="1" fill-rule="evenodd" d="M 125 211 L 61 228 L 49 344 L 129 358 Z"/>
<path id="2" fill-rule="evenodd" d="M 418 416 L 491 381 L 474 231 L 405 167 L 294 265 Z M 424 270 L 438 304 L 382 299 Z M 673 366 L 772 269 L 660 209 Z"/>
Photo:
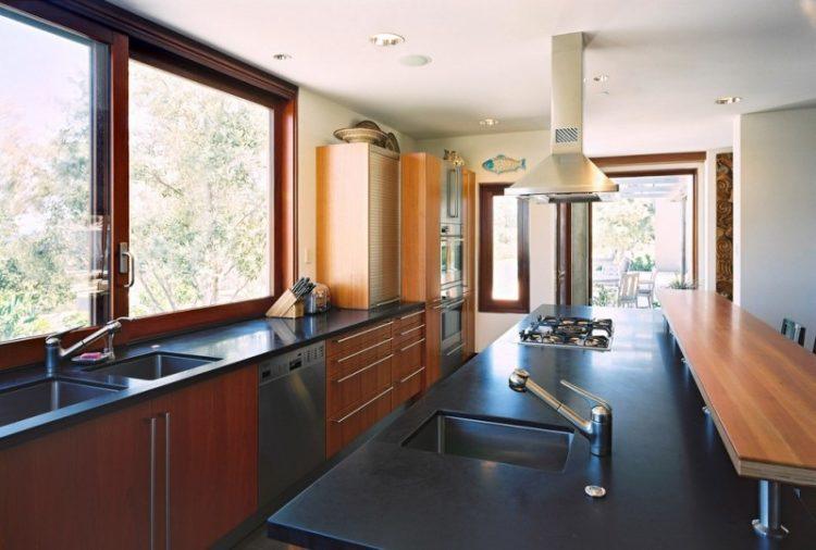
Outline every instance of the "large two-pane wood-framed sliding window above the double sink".
<path id="1" fill-rule="evenodd" d="M 296 120 L 293 84 L 104 2 L 0 0 L 0 368 L 113 317 L 127 343 L 262 315 Z"/>

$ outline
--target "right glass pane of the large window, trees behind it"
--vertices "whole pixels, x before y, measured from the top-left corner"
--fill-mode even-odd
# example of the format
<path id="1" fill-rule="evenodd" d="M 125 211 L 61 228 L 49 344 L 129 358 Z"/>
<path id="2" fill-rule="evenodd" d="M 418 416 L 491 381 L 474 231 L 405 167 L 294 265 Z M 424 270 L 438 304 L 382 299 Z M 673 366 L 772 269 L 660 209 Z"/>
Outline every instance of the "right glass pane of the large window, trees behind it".
<path id="1" fill-rule="evenodd" d="M 131 314 L 270 295 L 265 107 L 131 62 Z"/>

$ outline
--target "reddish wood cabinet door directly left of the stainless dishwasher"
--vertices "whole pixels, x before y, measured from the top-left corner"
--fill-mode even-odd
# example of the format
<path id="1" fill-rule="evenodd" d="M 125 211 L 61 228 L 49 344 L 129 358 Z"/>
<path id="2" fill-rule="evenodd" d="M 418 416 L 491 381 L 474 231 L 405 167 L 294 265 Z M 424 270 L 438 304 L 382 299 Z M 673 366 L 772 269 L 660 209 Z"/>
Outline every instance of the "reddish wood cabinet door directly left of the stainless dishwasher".
<path id="1" fill-rule="evenodd" d="M 157 548 L 168 538 L 174 550 L 209 548 L 258 508 L 257 367 L 157 398 L 152 410 L 159 418 Z"/>

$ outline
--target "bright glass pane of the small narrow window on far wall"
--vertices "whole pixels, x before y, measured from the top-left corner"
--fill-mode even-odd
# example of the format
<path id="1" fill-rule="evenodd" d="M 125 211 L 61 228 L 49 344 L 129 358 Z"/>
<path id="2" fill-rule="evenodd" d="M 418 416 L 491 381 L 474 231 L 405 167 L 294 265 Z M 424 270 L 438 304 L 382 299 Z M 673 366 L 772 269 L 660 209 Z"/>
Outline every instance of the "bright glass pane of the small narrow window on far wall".
<path id="1" fill-rule="evenodd" d="M 494 300 L 519 299 L 519 201 L 493 197 Z"/>

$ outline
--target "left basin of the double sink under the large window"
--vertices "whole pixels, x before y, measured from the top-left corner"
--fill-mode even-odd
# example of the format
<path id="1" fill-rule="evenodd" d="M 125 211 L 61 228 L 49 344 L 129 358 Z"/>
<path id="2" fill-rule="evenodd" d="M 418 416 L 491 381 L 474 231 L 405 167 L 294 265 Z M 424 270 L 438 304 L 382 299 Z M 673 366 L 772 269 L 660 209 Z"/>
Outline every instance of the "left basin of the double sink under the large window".
<path id="1" fill-rule="evenodd" d="M 12 388 L 0 393 L 0 426 L 121 389 L 61 378 Z"/>

